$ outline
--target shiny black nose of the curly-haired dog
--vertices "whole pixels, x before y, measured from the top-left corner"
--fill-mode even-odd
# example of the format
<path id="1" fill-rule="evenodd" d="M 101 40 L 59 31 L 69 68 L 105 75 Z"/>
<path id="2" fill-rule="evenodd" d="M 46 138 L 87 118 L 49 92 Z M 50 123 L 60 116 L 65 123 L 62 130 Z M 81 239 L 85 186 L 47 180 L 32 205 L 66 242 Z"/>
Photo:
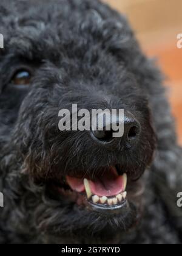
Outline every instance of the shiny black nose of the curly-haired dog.
<path id="1" fill-rule="evenodd" d="M 118 120 L 119 118 L 115 116 L 113 119 Z M 119 121 L 116 121 L 116 123 L 119 125 Z M 141 133 L 140 123 L 135 116 L 129 112 L 124 113 L 124 130 L 121 137 L 113 136 L 113 134 L 116 134 L 116 130 L 113 130 L 112 127 L 116 123 L 108 122 L 106 120 L 104 122 L 103 129 L 92 129 L 93 138 L 98 141 L 98 143 L 102 143 L 104 146 L 107 146 L 107 148 L 118 148 L 118 146 L 120 146 L 120 148 L 121 146 L 132 148 L 132 146 L 135 146 Z M 110 129 L 107 129 L 108 127 Z"/>

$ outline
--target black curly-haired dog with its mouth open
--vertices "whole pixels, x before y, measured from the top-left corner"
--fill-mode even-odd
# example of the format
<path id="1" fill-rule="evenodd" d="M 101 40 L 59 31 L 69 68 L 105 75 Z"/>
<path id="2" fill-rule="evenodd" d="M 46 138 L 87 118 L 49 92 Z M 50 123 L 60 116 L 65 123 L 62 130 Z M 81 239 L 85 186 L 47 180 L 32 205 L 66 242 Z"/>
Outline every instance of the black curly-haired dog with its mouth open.
<path id="1" fill-rule="evenodd" d="M 1 0 L 0 33 L 1 243 L 180 243 L 174 119 L 125 18 L 97 0 Z M 61 132 L 72 104 L 124 109 L 124 136 Z"/>

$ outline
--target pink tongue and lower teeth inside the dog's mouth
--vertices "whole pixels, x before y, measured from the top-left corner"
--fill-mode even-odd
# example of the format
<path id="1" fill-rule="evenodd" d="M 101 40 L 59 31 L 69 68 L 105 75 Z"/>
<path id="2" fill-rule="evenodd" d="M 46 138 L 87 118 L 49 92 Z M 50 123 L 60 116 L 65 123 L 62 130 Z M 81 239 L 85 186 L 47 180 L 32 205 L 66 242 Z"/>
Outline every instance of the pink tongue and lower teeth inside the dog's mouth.
<path id="1" fill-rule="evenodd" d="M 127 175 L 118 175 L 115 167 L 110 167 L 94 180 L 66 177 L 70 188 L 77 193 L 85 193 L 90 204 L 102 208 L 115 208 L 126 201 Z"/>

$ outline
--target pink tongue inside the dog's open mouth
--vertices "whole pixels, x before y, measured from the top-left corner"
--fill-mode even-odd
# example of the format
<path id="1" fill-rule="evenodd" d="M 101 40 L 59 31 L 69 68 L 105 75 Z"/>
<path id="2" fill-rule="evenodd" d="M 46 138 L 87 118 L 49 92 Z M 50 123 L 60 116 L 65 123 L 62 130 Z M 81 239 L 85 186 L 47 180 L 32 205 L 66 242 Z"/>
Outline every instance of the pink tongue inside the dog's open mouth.
<path id="1" fill-rule="evenodd" d="M 76 192 L 85 191 L 83 179 L 67 176 L 67 183 Z M 113 168 L 104 172 L 103 176 L 96 180 L 89 180 L 89 184 L 92 193 L 97 196 L 116 196 L 116 194 L 123 192 L 124 188 L 123 176 L 118 176 Z"/>

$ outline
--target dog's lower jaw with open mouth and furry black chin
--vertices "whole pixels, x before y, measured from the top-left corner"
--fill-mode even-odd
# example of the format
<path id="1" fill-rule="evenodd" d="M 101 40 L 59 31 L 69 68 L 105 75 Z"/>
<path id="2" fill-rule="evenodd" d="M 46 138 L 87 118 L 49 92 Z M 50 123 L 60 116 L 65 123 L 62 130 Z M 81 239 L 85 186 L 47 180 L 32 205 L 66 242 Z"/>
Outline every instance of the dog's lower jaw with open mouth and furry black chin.
<path id="1" fill-rule="evenodd" d="M 53 227 L 55 235 L 69 234 L 81 237 L 115 237 L 126 232 L 140 218 L 144 193 L 143 177 L 133 181 L 132 176 L 118 171 L 116 166 L 98 171 L 94 177 L 65 176 L 61 183 L 50 182 L 47 193 L 60 203 L 56 219 L 63 227 Z M 60 214 L 60 215 L 59 215 Z M 57 232 L 57 233 L 56 233 Z"/>

